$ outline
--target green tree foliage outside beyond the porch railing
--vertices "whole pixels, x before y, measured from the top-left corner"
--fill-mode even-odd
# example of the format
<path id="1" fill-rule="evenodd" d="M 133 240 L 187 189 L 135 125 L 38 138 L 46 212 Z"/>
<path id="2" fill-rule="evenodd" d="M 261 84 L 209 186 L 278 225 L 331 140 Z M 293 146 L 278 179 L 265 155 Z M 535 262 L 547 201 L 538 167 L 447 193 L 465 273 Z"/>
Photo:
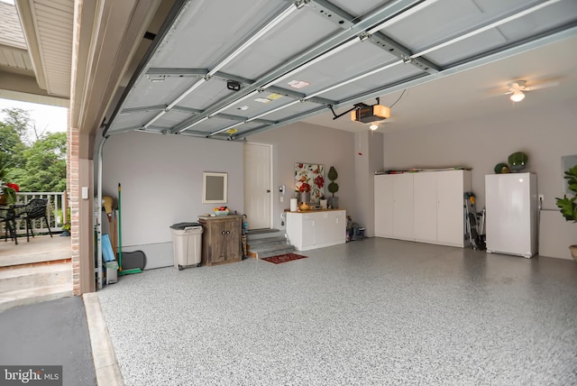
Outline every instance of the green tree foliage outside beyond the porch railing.
<path id="1" fill-rule="evenodd" d="M 66 189 L 66 133 L 38 135 L 28 112 L 4 109 L 0 123 L 0 167 L 5 179 L 21 191 L 49 192 Z M 30 130 L 35 141 L 28 141 Z M 27 142 L 29 142 L 27 144 Z"/>

